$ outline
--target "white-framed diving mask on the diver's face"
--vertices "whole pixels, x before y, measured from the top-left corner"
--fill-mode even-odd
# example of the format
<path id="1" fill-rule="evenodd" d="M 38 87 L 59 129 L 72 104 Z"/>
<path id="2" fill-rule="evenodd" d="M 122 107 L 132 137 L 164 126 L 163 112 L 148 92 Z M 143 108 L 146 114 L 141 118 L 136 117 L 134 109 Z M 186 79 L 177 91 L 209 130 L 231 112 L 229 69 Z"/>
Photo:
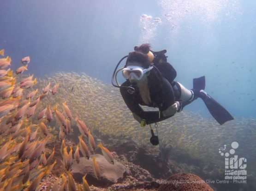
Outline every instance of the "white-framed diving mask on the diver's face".
<path id="1" fill-rule="evenodd" d="M 139 66 L 127 66 L 122 70 L 122 74 L 125 79 L 137 79 L 140 80 L 142 79 L 144 73 L 149 72 L 153 66 L 144 69 L 143 67 Z"/>

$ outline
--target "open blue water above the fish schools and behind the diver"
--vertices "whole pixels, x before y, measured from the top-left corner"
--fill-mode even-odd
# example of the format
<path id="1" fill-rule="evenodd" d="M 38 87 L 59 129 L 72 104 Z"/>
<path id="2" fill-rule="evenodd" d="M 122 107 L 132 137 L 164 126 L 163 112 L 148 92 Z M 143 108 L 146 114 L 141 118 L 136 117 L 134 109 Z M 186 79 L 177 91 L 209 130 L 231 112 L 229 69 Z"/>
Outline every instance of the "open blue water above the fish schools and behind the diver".
<path id="1" fill-rule="evenodd" d="M 256 117 L 256 1 L 1 0 L 0 49 L 12 69 L 30 56 L 36 76 L 84 72 L 110 84 L 119 59 L 146 42 L 143 14 L 161 18 L 145 39 L 167 49 L 177 81 L 192 88 L 205 75 L 206 91 L 232 115 Z M 186 110 L 210 117 L 202 101 Z"/>

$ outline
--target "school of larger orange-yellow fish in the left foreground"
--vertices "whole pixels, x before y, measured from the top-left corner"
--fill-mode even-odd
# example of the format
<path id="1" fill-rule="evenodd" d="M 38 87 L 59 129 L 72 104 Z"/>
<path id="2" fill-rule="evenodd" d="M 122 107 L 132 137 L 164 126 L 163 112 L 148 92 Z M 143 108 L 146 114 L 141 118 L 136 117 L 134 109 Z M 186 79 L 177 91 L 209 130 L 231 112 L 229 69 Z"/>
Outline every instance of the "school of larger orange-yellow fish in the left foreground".
<path id="1" fill-rule="evenodd" d="M 0 50 L 0 55 L 4 56 L 4 54 L 4 50 Z M 56 164 L 56 161 L 53 161 L 55 149 L 46 148 L 48 143 L 56 141 L 56 129 L 50 127 L 54 117 L 59 126 L 60 152 L 65 172 L 56 182 L 51 183 L 52 186 L 49 185 L 47 190 L 89 191 L 85 176 L 83 183 L 76 186 L 71 174 L 71 166 L 73 158 L 79 163 L 79 150 L 87 159 L 94 152 L 96 143 L 91 131 L 83 120 L 76 117 L 75 121 L 81 133 L 79 144 L 75 148 L 66 146 L 65 136 L 72 132 L 71 122 L 74 121 L 66 101 L 63 102 L 63 112 L 58 109 L 58 103 L 53 107 L 48 104 L 44 109 L 39 110 L 44 107 L 42 100 L 54 96 L 59 84 L 55 83 L 51 88 L 51 82 L 48 82 L 42 90 L 34 90 L 33 86 L 37 83 L 34 75 L 26 78 L 22 76 L 22 73 L 28 69 L 30 57 L 21 59 L 22 66 L 17 68 L 15 74 L 10 68 L 6 69 L 10 67 L 11 62 L 10 56 L 0 58 L 0 191 L 40 189 L 41 180 Z M 54 98 L 52 102 L 53 100 Z M 112 153 L 102 143 L 98 146 L 106 160 L 114 164 Z M 100 167 L 95 157 L 93 157 L 93 169 L 95 177 L 100 180 Z"/>

